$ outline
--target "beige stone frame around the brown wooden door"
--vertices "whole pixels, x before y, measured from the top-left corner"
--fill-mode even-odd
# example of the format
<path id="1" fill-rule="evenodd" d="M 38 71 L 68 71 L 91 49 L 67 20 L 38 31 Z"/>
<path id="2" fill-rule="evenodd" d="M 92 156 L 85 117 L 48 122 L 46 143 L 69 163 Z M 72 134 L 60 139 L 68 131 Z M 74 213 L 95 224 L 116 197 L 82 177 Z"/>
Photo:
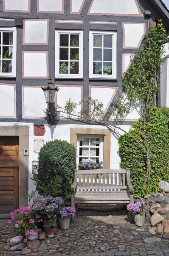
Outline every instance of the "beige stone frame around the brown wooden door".
<path id="1" fill-rule="evenodd" d="M 28 206 L 29 157 L 23 155 L 23 150 L 29 148 L 29 126 L 0 126 L 0 136 L 19 137 L 19 207 Z"/>

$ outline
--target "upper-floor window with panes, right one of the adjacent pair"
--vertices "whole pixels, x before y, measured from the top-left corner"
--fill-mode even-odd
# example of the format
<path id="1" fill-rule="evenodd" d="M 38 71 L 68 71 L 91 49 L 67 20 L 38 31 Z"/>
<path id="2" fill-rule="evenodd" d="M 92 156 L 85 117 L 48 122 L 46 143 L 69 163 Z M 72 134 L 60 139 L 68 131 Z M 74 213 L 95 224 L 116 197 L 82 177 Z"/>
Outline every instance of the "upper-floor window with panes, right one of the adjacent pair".
<path id="1" fill-rule="evenodd" d="M 90 78 L 116 79 L 116 32 L 90 31 Z"/>

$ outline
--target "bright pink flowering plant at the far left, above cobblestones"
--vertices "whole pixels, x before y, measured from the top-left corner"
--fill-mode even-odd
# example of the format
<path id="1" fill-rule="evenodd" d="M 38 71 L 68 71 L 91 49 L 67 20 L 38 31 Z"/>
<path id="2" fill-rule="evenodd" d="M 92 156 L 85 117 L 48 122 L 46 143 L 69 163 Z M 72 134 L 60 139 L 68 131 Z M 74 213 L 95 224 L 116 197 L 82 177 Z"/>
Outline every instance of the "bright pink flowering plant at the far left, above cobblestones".
<path id="1" fill-rule="evenodd" d="M 28 207 L 20 206 L 20 209 L 15 209 L 11 212 L 11 220 L 8 220 L 9 224 L 15 227 L 15 234 L 20 236 L 21 241 L 27 242 L 28 236 L 34 235 L 34 229 L 37 228 L 36 223 L 42 222 L 42 219 L 36 219 L 34 211 L 28 205 Z"/>

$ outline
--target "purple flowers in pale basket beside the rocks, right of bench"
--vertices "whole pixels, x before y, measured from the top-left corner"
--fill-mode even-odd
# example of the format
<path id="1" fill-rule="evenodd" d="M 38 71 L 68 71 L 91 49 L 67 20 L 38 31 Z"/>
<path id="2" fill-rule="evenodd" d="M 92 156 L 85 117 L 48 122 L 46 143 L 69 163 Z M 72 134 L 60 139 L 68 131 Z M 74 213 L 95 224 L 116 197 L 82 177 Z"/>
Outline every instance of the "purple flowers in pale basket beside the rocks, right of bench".
<path id="1" fill-rule="evenodd" d="M 145 220 L 144 202 L 136 202 L 135 204 L 128 204 L 127 210 L 133 213 L 136 226 L 144 225 L 144 220 Z"/>

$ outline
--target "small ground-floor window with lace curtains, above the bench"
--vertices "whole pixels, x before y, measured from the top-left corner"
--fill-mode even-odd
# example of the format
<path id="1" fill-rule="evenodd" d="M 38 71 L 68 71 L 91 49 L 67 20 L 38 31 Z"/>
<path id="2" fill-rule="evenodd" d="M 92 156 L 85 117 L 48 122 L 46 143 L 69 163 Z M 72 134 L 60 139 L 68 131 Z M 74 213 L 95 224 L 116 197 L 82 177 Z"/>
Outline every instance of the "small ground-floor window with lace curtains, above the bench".
<path id="1" fill-rule="evenodd" d="M 78 135 L 77 137 L 77 166 L 83 163 L 103 162 L 103 136 L 102 135 Z"/>

